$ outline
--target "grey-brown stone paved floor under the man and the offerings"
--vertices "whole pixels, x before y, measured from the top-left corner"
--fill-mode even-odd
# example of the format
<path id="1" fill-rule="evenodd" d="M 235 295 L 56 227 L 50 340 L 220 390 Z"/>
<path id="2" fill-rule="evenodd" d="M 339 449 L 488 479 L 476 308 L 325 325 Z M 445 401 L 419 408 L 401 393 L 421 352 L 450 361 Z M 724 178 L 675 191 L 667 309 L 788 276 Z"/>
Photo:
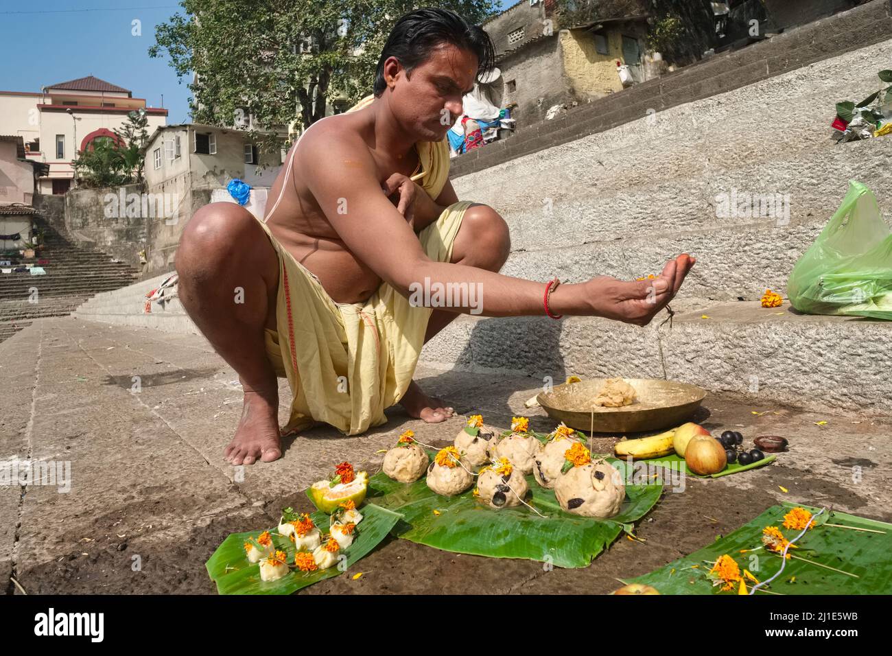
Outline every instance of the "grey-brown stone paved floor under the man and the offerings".
<path id="1" fill-rule="evenodd" d="M 130 392 L 135 376 L 139 394 Z M 482 412 L 496 426 L 524 412 L 539 382 L 423 365 L 418 379 L 457 411 Z M 16 592 L 14 571 L 29 594 L 213 594 L 204 561 L 228 533 L 272 526 L 283 506 L 310 510 L 302 489 L 337 461 L 377 469 L 383 456 L 376 452 L 406 428 L 432 443 L 462 425 L 460 418 L 427 425 L 393 408 L 384 427 L 364 436 L 317 429 L 290 440 L 282 460 L 244 468 L 236 481 L 222 458 L 241 411 L 236 380 L 201 337 L 148 328 L 38 320 L 0 344 L 0 461 L 70 461 L 72 477 L 67 494 L 0 486 L 0 591 Z M 285 381 L 281 389 L 287 398 Z M 533 428 L 554 425 L 539 409 L 525 413 Z M 622 538 L 588 569 L 545 571 L 532 561 L 391 538 L 351 570 L 365 572 L 359 580 L 335 577 L 305 594 L 603 594 L 619 585 L 616 577 L 693 552 L 776 502 L 892 520 L 892 421 L 754 407 L 715 394 L 695 419 L 712 430 L 738 429 L 748 441 L 786 436 L 791 451 L 747 474 L 688 480 L 681 494 L 667 488 L 636 529 L 645 542 Z M 598 438 L 596 451 L 614 441 Z"/>

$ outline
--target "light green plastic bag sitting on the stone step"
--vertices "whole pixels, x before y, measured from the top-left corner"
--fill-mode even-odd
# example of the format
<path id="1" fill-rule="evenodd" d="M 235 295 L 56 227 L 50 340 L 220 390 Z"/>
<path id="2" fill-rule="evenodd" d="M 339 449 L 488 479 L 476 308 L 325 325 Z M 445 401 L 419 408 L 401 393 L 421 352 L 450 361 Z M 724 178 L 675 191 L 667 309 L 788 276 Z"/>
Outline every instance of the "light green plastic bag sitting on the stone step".
<path id="1" fill-rule="evenodd" d="M 860 182 L 848 193 L 787 281 L 789 302 L 809 314 L 892 320 L 892 233 Z"/>

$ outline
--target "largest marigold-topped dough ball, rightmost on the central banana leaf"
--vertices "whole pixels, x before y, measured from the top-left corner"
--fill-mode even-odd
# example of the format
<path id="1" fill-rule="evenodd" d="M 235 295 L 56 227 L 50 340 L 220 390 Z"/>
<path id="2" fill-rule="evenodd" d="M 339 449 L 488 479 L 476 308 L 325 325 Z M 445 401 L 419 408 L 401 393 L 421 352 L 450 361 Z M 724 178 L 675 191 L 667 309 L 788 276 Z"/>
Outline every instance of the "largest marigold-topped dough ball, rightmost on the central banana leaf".
<path id="1" fill-rule="evenodd" d="M 619 471 L 604 461 L 591 461 L 582 444 L 574 444 L 565 454 L 569 469 L 555 484 L 560 507 L 583 517 L 613 517 L 625 499 L 625 486 Z"/>

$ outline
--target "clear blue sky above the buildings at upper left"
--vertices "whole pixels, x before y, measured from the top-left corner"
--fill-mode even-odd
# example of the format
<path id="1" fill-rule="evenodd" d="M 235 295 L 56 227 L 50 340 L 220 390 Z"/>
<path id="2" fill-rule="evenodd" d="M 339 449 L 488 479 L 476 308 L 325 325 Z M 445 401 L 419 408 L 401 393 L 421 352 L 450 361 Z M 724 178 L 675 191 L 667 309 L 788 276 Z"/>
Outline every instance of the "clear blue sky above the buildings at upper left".
<path id="1" fill-rule="evenodd" d="M 189 80 L 180 84 L 166 60 L 148 55 L 155 25 L 178 8 L 171 0 L 0 0 L 0 89 L 39 91 L 95 75 L 166 107 L 169 123 L 186 122 Z M 133 21 L 141 21 L 142 36 L 133 34 Z"/>

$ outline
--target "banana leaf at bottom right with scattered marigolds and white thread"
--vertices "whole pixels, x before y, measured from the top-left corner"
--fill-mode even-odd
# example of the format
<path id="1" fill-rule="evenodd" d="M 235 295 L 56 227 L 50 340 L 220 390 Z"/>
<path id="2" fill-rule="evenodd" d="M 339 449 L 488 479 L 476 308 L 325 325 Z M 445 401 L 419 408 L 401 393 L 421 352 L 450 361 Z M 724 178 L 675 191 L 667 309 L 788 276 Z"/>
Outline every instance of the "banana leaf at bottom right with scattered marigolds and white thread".
<path id="1" fill-rule="evenodd" d="M 706 572 L 719 556 L 727 553 L 738 563 L 742 572 L 748 569 L 759 580 L 772 577 L 780 569 L 780 556 L 764 549 L 741 553 L 741 550 L 754 549 L 762 544 L 762 529 L 776 526 L 788 540 L 800 531 L 783 527 L 783 516 L 796 504 L 784 503 L 764 511 L 729 536 L 716 540 L 713 544 L 691 553 L 678 561 L 645 574 L 624 581 L 652 585 L 661 594 L 737 594 L 735 587 L 729 592 L 721 592 L 720 586 L 713 586 L 706 578 Z M 820 508 L 802 506 L 813 514 Z M 822 522 L 824 514 L 817 519 Z M 869 528 L 885 533 L 867 533 L 848 528 L 827 526 Z M 892 594 L 892 524 L 872 519 L 864 519 L 845 512 L 830 512 L 826 523 L 809 530 L 797 541 L 798 549 L 789 552 L 806 561 L 791 558 L 784 566 L 780 577 L 775 578 L 767 594 Z M 810 561 L 810 562 L 809 562 Z M 818 564 L 841 569 L 855 577 L 848 576 Z M 692 569 L 697 565 L 696 569 Z M 795 578 L 794 578 L 795 577 Z M 747 581 L 747 587 L 753 585 Z M 760 594 L 762 588 L 756 591 Z"/>

